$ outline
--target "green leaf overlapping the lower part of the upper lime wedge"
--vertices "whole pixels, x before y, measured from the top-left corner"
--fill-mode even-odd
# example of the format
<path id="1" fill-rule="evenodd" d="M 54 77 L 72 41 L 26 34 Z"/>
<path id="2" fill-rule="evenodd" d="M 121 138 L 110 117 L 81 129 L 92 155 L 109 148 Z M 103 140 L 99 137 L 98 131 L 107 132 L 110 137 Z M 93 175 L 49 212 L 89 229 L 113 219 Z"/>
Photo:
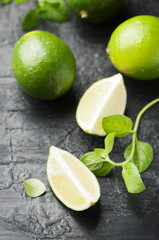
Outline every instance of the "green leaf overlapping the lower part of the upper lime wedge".
<path id="1" fill-rule="evenodd" d="M 102 126 L 104 131 L 109 133 L 115 133 L 116 137 L 125 137 L 132 129 L 132 121 L 130 118 L 121 115 L 111 115 L 103 118 Z"/>

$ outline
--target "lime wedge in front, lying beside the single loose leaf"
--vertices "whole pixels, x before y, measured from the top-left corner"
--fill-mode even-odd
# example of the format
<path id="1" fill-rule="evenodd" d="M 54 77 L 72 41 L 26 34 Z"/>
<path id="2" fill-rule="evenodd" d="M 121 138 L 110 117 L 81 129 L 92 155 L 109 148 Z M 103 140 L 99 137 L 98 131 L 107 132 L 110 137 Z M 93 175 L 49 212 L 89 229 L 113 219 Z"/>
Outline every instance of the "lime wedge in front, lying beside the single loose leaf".
<path id="1" fill-rule="evenodd" d="M 73 210 L 85 210 L 100 197 L 95 175 L 71 153 L 54 146 L 50 147 L 47 176 L 57 198 Z"/>

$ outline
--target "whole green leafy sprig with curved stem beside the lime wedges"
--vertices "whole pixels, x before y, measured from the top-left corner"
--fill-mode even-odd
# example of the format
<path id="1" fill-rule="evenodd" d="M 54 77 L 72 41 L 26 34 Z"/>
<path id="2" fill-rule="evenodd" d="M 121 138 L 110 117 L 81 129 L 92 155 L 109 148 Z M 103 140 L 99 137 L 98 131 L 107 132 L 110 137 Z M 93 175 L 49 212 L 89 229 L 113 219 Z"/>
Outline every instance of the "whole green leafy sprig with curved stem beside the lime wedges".
<path id="1" fill-rule="evenodd" d="M 159 102 L 159 98 L 147 104 L 137 115 L 134 128 L 132 120 L 124 115 L 111 115 L 103 118 L 102 126 L 107 136 L 104 140 L 105 149 L 95 148 L 94 152 L 86 153 L 81 161 L 96 175 L 106 176 L 113 167 L 122 167 L 122 176 L 128 192 L 140 193 L 145 190 L 140 173 L 144 172 L 153 159 L 153 148 L 150 144 L 139 141 L 137 130 L 142 115 L 151 106 Z M 132 143 L 125 149 L 125 161 L 116 163 L 109 157 L 114 146 L 115 137 L 132 134 Z"/>

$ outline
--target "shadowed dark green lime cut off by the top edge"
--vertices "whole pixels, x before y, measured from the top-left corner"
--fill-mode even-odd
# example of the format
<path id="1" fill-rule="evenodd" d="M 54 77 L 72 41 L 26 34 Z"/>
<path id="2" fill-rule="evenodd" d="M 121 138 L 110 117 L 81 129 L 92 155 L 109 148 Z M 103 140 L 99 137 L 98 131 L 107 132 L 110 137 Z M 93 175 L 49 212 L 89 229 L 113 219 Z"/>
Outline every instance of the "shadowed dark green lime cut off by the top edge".
<path id="1" fill-rule="evenodd" d="M 121 8 L 124 0 L 67 0 L 72 12 L 92 23 L 111 19 Z"/>

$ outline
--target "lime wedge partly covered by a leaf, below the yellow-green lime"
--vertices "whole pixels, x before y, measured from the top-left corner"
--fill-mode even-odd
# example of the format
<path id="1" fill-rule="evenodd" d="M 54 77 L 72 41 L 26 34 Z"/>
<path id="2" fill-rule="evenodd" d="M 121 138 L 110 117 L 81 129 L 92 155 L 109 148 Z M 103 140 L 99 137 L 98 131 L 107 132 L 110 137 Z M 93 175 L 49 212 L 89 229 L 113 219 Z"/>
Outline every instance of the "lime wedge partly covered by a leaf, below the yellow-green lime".
<path id="1" fill-rule="evenodd" d="M 102 128 L 103 117 L 123 114 L 126 98 L 126 89 L 120 73 L 95 82 L 86 90 L 78 104 L 78 125 L 86 133 L 105 136 Z"/>

